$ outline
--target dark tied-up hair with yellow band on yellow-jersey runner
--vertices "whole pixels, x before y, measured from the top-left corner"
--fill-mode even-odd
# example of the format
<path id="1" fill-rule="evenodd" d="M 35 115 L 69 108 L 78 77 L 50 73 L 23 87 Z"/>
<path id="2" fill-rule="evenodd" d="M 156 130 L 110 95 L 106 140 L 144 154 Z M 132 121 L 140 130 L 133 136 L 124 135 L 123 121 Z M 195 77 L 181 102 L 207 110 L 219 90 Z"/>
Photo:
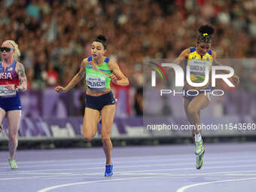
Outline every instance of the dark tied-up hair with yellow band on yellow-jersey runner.
<path id="1" fill-rule="evenodd" d="M 209 25 L 200 26 L 198 31 L 200 32 L 200 35 L 198 35 L 198 38 L 197 38 L 198 44 L 201 42 L 206 44 L 212 42 L 212 34 L 215 32 L 215 29 L 212 26 L 209 26 Z"/>

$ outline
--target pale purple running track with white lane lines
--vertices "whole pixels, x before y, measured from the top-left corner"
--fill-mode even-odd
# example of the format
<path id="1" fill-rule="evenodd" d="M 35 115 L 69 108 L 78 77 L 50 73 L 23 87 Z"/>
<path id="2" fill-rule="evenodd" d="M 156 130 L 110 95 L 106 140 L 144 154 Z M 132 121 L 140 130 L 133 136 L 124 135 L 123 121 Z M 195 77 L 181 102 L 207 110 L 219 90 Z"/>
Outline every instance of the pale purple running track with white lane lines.
<path id="1" fill-rule="evenodd" d="M 255 143 L 206 144 L 203 168 L 194 145 L 114 148 L 105 178 L 102 148 L 17 151 L 19 169 L 0 152 L 0 191 L 213 192 L 255 191 Z"/>

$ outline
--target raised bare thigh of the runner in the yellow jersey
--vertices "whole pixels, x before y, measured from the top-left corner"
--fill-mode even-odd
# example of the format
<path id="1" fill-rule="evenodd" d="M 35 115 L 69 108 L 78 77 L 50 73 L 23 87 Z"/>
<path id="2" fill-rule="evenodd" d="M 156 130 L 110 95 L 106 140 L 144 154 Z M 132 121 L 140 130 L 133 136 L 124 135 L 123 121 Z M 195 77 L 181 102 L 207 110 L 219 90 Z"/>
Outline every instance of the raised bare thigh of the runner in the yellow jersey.
<path id="1" fill-rule="evenodd" d="M 210 104 L 209 97 L 204 93 L 195 96 L 194 99 L 188 105 L 188 108 L 193 108 L 195 111 L 200 111 L 206 108 Z"/>

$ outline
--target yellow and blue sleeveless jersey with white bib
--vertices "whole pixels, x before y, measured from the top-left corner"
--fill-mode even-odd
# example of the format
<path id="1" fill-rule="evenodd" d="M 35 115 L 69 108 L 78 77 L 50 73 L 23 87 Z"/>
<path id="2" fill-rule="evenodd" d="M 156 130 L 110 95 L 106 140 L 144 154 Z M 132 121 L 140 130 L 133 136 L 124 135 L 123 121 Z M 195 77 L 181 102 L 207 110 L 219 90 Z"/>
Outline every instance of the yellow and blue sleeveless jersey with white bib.
<path id="1" fill-rule="evenodd" d="M 194 83 L 202 83 L 206 77 L 206 67 L 209 68 L 209 72 L 212 70 L 212 61 L 212 50 L 207 51 L 204 56 L 200 56 L 196 47 L 191 47 L 186 65 L 190 67 L 190 80 Z"/>

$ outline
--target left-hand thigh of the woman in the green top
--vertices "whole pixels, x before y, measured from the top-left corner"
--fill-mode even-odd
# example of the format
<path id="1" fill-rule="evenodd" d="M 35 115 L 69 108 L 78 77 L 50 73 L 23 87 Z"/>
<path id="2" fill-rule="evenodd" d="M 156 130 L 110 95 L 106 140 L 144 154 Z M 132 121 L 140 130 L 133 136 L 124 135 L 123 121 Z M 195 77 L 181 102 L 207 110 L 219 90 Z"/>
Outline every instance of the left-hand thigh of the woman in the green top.
<path id="1" fill-rule="evenodd" d="M 92 108 L 84 109 L 84 123 L 83 133 L 92 134 L 93 136 L 97 132 L 97 123 L 99 120 L 99 111 Z"/>

